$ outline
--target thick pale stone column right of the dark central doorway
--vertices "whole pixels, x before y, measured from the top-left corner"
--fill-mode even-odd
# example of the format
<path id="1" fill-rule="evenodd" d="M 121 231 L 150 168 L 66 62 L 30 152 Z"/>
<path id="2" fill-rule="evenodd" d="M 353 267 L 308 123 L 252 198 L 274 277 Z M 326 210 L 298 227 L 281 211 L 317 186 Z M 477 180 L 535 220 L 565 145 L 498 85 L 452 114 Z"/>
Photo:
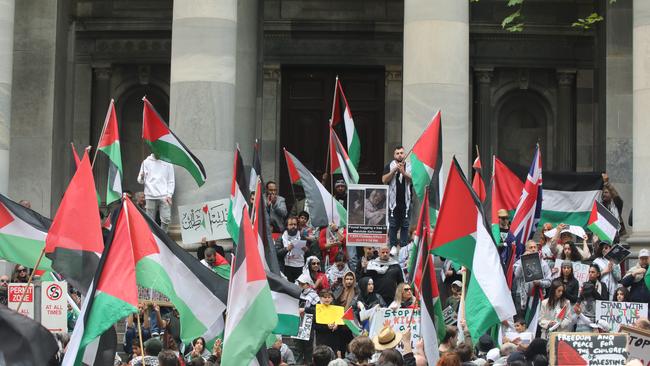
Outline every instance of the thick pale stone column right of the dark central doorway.
<path id="1" fill-rule="evenodd" d="M 469 2 L 404 2 L 402 143 L 415 143 L 442 111 L 445 170 L 456 155 L 469 164 Z"/>

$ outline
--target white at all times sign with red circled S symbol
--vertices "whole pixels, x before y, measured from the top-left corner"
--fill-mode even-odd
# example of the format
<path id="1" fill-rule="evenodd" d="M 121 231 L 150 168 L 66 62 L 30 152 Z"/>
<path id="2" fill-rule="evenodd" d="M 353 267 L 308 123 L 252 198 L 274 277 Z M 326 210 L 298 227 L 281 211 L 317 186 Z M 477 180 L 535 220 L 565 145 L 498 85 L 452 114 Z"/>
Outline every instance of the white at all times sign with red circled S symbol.
<path id="1" fill-rule="evenodd" d="M 68 331 L 68 283 L 41 283 L 41 324 L 52 333 Z"/>

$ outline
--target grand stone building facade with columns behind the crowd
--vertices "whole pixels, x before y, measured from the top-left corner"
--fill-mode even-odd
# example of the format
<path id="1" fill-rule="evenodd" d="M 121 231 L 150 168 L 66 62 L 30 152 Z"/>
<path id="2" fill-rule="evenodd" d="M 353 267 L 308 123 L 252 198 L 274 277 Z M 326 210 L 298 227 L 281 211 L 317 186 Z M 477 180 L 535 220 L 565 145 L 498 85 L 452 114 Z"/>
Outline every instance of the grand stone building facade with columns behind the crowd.
<path id="1" fill-rule="evenodd" d="M 233 148 L 250 161 L 255 138 L 264 176 L 289 195 L 282 148 L 323 172 L 338 75 L 363 182 L 440 109 L 446 162 L 469 167 L 478 145 L 488 172 L 492 154 L 527 165 L 539 141 L 545 169 L 607 171 L 626 220 L 635 207 L 629 241 L 647 243 L 650 2 L 526 0 L 520 33 L 500 26 L 511 11 L 502 0 L 0 0 L 0 192 L 55 212 L 69 143 L 97 143 L 111 98 L 124 188 L 140 190 L 147 95 L 207 169 L 201 188 L 177 170 L 177 204 L 227 197 Z M 605 20 L 571 27 L 594 11 Z"/>

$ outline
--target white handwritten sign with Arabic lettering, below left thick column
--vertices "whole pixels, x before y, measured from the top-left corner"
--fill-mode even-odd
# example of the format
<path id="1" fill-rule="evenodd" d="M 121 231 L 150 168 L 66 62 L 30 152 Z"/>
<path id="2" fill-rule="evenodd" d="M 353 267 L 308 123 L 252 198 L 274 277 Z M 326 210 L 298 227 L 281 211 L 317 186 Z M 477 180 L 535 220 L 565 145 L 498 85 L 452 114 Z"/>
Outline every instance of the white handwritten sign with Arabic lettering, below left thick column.
<path id="1" fill-rule="evenodd" d="M 178 207 L 183 243 L 193 244 L 201 239 L 218 240 L 230 238 L 226 230 L 230 200 L 224 198 Z"/>

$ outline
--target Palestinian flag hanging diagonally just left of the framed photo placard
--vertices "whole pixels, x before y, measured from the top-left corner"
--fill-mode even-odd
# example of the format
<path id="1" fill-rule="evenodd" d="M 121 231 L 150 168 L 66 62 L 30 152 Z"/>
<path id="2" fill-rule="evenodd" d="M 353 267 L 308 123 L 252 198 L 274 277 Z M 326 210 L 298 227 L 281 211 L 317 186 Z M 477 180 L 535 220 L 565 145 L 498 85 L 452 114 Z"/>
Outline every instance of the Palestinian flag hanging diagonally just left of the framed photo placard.
<path id="1" fill-rule="evenodd" d="M 318 179 L 286 149 L 284 157 L 287 160 L 291 184 L 299 184 L 305 190 L 311 224 L 314 227 L 324 227 L 333 222 L 338 227 L 346 226 L 348 213 L 343 205 L 335 200 Z"/>

